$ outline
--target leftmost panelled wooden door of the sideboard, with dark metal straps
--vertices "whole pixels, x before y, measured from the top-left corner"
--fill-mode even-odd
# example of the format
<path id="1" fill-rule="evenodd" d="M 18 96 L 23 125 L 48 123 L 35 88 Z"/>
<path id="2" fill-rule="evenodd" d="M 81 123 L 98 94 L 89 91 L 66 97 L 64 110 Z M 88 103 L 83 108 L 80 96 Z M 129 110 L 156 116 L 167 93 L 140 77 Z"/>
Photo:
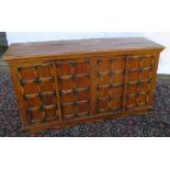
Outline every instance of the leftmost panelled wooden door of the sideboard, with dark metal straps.
<path id="1" fill-rule="evenodd" d="M 16 67 L 19 92 L 24 105 L 25 124 L 50 123 L 59 120 L 56 72 L 50 61 L 23 64 Z"/>

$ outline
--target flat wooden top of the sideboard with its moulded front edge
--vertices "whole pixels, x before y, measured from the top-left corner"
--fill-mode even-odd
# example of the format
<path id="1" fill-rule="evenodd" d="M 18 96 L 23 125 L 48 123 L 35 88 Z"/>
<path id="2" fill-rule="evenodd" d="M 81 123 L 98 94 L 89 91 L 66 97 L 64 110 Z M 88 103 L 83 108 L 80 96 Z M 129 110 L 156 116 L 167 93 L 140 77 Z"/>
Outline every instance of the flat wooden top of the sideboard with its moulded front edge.
<path id="1" fill-rule="evenodd" d="M 93 38 L 39 43 L 12 44 L 3 56 L 4 60 L 39 58 L 47 56 L 118 53 L 134 50 L 162 50 L 165 47 L 144 37 Z"/>

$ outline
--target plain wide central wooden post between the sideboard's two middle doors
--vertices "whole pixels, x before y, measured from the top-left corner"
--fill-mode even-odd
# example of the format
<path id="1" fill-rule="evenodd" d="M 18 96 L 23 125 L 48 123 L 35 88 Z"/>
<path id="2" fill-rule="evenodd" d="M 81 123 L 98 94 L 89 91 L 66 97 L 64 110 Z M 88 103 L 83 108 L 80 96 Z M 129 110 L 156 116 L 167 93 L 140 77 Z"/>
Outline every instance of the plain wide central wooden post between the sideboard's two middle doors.
<path id="1" fill-rule="evenodd" d="M 97 113 L 97 59 L 90 58 L 90 114 Z"/>

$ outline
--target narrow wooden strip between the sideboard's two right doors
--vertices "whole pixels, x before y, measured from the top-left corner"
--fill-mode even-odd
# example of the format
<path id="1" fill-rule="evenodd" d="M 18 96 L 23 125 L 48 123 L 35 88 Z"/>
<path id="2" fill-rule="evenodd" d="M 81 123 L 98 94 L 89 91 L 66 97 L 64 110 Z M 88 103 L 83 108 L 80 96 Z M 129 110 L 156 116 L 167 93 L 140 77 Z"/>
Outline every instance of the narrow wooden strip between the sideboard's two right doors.
<path id="1" fill-rule="evenodd" d="M 127 95 L 127 83 L 128 83 L 128 60 L 129 57 L 125 56 L 124 59 L 124 90 L 123 90 L 123 114 L 126 113 L 126 95 Z"/>

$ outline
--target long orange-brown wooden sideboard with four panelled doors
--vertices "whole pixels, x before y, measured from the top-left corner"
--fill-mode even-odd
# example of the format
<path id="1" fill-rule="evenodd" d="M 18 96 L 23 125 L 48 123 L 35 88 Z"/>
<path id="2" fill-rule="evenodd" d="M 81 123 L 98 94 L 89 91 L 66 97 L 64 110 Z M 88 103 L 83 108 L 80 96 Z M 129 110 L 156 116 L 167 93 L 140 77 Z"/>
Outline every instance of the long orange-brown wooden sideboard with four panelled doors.
<path id="1" fill-rule="evenodd" d="M 3 59 L 23 132 L 150 111 L 163 48 L 143 37 L 12 44 Z"/>

